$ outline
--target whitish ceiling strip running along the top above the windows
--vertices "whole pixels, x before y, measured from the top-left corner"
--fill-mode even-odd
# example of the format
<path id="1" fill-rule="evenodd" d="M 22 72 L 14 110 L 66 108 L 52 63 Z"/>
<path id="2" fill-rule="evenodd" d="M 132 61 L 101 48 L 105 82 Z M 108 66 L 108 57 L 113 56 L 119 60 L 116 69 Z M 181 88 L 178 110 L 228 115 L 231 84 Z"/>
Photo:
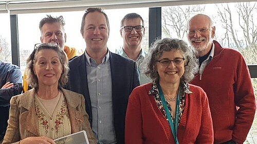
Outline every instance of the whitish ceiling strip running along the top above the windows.
<path id="1" fill-rule="evenodd" d="M 88 7 L 122 9 L 251 1 L 255 0 L 0 0 L 0 13 L 62 12 L 82 11 Z"/>

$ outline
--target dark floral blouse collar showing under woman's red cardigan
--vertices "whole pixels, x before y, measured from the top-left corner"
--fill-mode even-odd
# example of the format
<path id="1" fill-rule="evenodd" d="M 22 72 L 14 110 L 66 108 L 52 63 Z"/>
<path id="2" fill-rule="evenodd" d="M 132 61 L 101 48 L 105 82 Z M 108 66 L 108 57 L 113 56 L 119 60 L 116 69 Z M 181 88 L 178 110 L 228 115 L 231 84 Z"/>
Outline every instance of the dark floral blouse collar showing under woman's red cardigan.
<path id="1" fill-rule="evenodd" d="M 157 107 L 160 109 L 162 115 L 165 116 L 166 120 L 169 122 L 169 119 L 168 119 L 168 117 L 166 115 L 166 111 L 164 110 L 164 107 L 163 107 L 162 102 L 161 102 L 161 98 L 160 98 L 159 90 L 158 90 L 158 84 L 159 84 L 159 81 L 156 81 L 156 80 L 153 81 L 153 87 L 151 88 L 151 90 L 149 91 L 148 94 L 154 95 Z M 188 93 L 188 94 L 192 93 L 189 90 L 188 83 L 186 83 L 185 81 L 182 81 L 180 83 L 180 88 L 182 88 L 182 89 L 180 89 L 181 96 L 180 96 L 180 100 L 179 100 L 180 102 L 179 102 L 178 124 L 180 122 L 180 119 L 182 117 L 182 113 L 185 110 L 185 106 L 186 106 L 186 102 L 185 102 L 186 96 L 185 96 L 185 93 Z M 166 101 L 166 103 L 167 103 L 168 109 L 170 110 L 171 117 L 172 117 L 172 119 L 174 121 L 175 118 L 173 118 L 173 111 L 171 109 L 171 105 L 169 104 L 168 101 Z"/>

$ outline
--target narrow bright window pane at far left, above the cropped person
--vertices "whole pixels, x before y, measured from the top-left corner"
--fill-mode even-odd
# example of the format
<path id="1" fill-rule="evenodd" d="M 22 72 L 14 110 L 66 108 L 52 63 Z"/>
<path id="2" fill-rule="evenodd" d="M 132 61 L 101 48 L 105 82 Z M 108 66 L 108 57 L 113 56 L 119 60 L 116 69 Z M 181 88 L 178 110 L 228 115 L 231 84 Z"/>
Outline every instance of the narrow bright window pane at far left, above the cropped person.
<path id="1" fill-rule="evenodd" d="M 0 60 L 12 63 L 10 15 L 8 13 L 0 13 L 0 17 L 0 47 L 2 48 Z"/>

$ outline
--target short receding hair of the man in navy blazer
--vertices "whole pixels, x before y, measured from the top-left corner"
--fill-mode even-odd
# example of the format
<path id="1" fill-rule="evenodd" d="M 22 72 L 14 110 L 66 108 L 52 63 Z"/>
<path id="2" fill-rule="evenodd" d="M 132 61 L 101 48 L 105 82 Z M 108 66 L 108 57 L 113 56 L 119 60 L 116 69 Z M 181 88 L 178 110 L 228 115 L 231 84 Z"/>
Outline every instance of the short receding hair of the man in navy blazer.
<path id="1" fill-rule="evenodd" d="M 85 17 L 88 13 L 90 12 L 100 12 L 105 16 L 106 19 L 106 23 L 107 23 L 107 28 L 108 28 L 108 35 L 110 33 L 110 27 L 109 27 L 109 19 L 108 16 L 106 15 L 105 12 L 103 12 L 103 10 L 101 8 L 87 8 L 83 17 L 82 17 L 82 22 L 81 22 L 81 28 L 80 28 L 80 33 L 83 35 L 84 33 L 84 26 L 85 26 Z"/>

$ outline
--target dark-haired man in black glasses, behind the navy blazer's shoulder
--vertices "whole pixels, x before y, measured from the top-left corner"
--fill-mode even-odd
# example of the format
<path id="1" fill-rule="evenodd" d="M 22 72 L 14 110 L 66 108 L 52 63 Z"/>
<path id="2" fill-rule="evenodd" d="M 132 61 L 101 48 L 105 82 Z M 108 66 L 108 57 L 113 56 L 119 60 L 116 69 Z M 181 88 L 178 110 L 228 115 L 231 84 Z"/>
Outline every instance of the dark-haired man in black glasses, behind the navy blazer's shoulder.
<path id="1" fill-rule="evenodd" d="M 123 38 L 123 48 L 118 54 L 137 62 L 141 85 L 150 82 L 150 79 L 140 70 L 140 65 L 146 55 L 142 49 L 144 31 L 144 20 L 139 14 L 128 13 L 122 18 L 120 34 Z"/>

